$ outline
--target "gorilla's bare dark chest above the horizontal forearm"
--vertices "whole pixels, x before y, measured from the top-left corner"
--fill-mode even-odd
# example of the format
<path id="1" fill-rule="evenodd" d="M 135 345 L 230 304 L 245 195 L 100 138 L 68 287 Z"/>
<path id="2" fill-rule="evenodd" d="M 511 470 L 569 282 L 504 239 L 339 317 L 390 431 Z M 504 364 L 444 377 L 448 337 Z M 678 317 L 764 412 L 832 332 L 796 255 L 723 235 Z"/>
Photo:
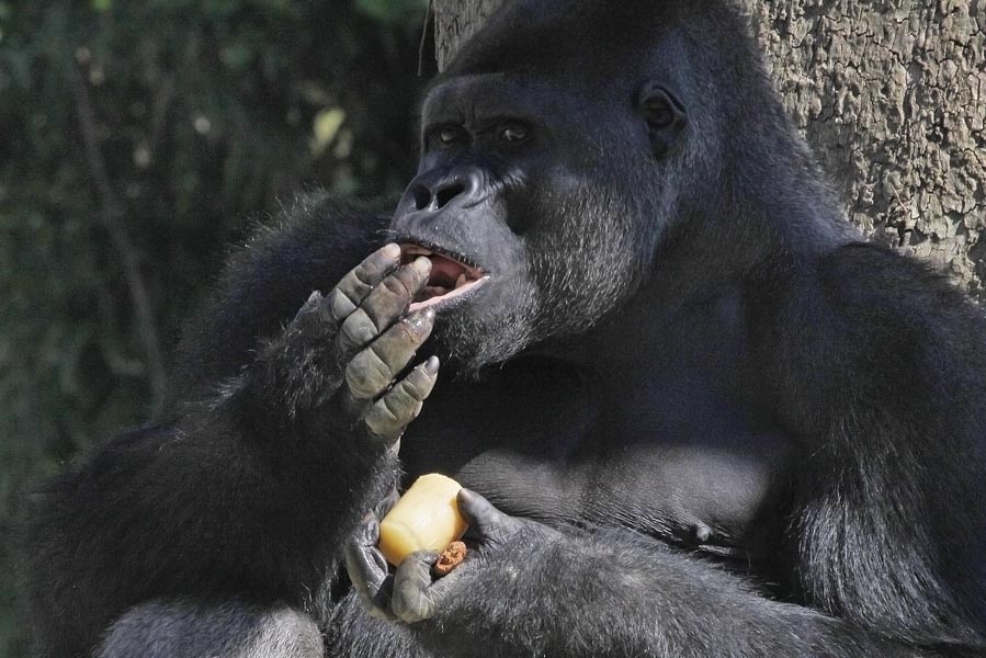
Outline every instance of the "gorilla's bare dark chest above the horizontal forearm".
<path id="1" fill-rule="evenodd" d="M 537 363 L 437 389 L 400 455 L 409 476 L 451 475 L 515 515 L 769 552 L 783 438 L 700 388 L 627 395 L 614 412 L 575 373 Z"/>

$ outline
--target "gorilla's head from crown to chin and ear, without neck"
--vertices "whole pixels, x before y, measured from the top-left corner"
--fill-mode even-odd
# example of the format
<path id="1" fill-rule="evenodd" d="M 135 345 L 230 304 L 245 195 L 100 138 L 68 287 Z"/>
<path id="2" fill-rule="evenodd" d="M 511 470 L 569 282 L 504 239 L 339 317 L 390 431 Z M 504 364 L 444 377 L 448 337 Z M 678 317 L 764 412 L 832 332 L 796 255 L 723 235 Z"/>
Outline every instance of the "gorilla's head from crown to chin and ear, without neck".
<path id="1" fill-rule="evenodd" d="M 650 66 L 676 47 L 661 38 L 668 12 L 644 30 L 617 4 L 582 5 L 598 14 L 588 21 L 569 4 L 500 12 L 423 102 L 419 173 L 392 228 L 407 258 L 430 254 L 422 304 L 442 311 L 437 339 L 467 366 L 625 302 L 694 158 L 681 91 Z M 609 53 L 579 48 L 587 25 L 600 32 L 586 43 Z M 628 31 L 654 52 L 626 52 Z"/>

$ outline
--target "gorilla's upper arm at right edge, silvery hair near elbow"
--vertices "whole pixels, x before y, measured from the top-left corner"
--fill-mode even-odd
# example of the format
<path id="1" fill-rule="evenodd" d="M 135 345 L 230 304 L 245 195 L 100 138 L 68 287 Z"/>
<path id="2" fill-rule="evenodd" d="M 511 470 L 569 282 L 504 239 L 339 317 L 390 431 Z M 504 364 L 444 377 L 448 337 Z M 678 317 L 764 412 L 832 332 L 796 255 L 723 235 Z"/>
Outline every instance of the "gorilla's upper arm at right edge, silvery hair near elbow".
<path id="1" fill-rule="evenodd" d="M 981 655 L 982 309 L 928 265 L 865 243 L 781 287 L 766 378 L 805 455 L 790 517 L 795 589 L 859 626 Z"/>

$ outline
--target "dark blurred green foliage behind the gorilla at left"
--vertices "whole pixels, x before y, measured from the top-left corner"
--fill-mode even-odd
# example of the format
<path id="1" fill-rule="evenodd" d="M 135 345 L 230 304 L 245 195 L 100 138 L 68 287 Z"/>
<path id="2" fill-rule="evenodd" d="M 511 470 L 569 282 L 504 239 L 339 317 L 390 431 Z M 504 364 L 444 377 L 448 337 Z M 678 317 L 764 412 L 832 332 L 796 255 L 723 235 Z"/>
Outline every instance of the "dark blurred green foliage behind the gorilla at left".
<path id="1" fill-rule="evenodd" d="M 0 657 L 20 497 L 152 416 L 229 246 L 316 185 L 393 207 L 426 7 L 0 0 Z"/>

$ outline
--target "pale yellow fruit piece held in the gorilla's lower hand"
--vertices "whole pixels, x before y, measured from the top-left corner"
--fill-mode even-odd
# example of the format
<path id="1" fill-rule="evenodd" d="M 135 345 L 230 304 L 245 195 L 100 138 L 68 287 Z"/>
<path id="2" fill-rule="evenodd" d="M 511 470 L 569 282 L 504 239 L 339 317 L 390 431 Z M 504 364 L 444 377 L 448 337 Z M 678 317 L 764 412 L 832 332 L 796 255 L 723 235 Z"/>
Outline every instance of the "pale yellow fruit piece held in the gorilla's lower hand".
<path id="1" fill-rule="evenodd" d="M 422 475 L 379 522 L 378 546 L 399 566 L 416 551 L 444 551 L 466 531 L 455 497 L 462 485 L 450 477 Z"/>

